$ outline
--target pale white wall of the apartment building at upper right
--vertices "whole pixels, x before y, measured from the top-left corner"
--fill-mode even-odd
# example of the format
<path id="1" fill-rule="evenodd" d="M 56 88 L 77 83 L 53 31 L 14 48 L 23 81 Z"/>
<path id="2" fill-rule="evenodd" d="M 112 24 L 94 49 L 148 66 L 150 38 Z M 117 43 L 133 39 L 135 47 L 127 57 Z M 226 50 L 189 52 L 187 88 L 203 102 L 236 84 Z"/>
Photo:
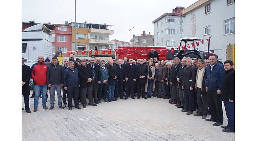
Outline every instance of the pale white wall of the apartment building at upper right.
<path id="1" fill-rule="evenodd" d="M 205 14 L 205 5 L 211 3 L 211 12 Z M 195 14 L 195 18 L 192 17 Z M 235 17 L 235 4 L 226 5 L 226 0 L 210 0 L 205 4 L 186 13 L 186 36 L 196 36 L 207 39 L 211 36 L 210 50 L 219 56 L 222 62 L 226 60 L 226 46 L 235 43 L 235 34 L 224 35 L 224 20 Z M 195 28 L 192 21 L 195 20 Z M 236 20 L 236 19 L 235 19 Z M 211 25 L 211 34 L 204 35 L 204 27 Z M 193 34 L 193 29 L 195 32 Z M 236 32 L 236 29 L 235 29 Z M 208 42 L 200 43 L 198 50 L 208 50 Z"/>

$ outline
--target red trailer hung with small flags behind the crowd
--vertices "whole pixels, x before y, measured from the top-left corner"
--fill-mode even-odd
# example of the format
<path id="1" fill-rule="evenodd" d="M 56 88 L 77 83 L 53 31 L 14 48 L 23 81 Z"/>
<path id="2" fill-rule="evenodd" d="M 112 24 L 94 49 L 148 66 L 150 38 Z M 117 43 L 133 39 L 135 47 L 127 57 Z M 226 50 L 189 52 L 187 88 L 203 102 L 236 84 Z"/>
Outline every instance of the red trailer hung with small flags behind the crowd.
<path id="1" fill-rule="evenodd" d="M 166 60 L 166 47 L 118 47 L 117 59 L 123 59 L 124 57 L 129 59 L 132 57 L 134 60 L 148 60 L 148 54 L 151 49 L 154 49 L 156 52 L 158 52 L 159 60 Z"/>

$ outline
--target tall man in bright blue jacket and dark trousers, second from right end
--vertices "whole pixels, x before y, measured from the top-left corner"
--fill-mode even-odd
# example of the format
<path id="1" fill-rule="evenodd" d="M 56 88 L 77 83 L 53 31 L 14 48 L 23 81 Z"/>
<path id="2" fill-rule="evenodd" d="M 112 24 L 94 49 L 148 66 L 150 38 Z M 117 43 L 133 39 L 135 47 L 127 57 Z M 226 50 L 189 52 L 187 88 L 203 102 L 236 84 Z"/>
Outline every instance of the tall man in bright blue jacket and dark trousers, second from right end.
<path id="1" fill-rule="evenodd" d="M 214 121 L 213 126 L 223 124 L 222 101 L 220 100 L 221 90 L 224 81 L 225 70 L 223 65 L 216 63 L 215 56 L 210 56 L 210 65 L 206 67 L 205 90 L 208 92 L 208 105 L 211 109 L 211 118 L 206 121 Z"/>

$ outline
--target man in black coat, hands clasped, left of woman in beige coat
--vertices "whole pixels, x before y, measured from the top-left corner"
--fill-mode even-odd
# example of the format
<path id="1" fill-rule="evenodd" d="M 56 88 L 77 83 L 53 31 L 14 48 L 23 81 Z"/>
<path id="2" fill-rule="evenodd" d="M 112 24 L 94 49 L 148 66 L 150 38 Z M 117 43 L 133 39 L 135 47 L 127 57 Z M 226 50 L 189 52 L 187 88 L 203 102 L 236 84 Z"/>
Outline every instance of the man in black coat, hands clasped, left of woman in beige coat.
<path id="1" fill-rule="evenodd" d="M 143 64 L 144 61 L 141 59 L 139 60 L 139 65 L 137 65 L 137 95 L 138 99 L 140 96 L 145 98 L 145 84 L 147 83 L 147 76 L 148 76 L 148 69 L 147 65 Z"/>

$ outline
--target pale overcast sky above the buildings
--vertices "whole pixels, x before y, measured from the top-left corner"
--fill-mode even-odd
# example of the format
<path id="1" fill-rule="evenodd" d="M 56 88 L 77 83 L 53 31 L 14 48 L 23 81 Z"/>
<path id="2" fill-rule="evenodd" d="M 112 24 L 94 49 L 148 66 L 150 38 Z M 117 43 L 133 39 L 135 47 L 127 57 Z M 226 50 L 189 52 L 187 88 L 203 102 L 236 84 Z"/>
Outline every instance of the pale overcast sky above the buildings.
<path id="1" fill-rule="evenodd" d="M 177 5 L 188 7 L 197 0 L 76 0 L 76 22 L 114 25 L 109 38 L 128 42 L 132 35 L 154 34 L 152 21 L 172 13 Z M 75 21 L 75 0 L 22 0 L 22 22 L 64 24 Z"/>

